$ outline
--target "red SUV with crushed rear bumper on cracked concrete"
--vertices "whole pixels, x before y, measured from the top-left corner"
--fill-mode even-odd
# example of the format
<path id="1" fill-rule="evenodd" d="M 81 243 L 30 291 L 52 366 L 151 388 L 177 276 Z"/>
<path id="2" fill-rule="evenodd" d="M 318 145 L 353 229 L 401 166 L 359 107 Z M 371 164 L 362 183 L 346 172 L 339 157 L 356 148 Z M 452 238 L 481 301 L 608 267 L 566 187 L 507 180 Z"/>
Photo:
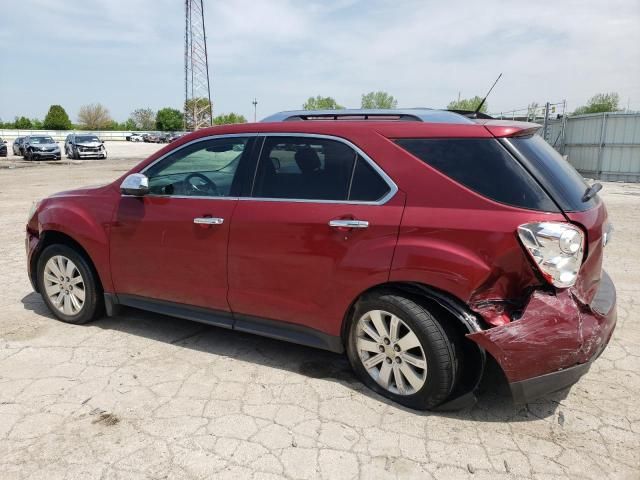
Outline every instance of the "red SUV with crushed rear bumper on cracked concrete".
<path id="1" fill-rule="evenodd" d="M 202 129 L 42 200 L 31 282 L 65 322 L 126 305 L 346 351 L 418 409 L 468 404 L 492 357 L 526 402 L 574 383 L 616 322 L 600 185 L 538 127 L 359 110 Z"/>

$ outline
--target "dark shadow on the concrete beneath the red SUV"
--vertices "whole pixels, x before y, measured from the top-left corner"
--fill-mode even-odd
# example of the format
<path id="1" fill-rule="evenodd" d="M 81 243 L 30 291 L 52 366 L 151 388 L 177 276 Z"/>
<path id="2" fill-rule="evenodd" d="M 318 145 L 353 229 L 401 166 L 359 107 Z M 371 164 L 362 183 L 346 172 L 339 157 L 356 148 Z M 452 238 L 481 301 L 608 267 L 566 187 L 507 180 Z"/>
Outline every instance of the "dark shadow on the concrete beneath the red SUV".
<path id="1" fill-rule="evenodd" d="M 22 303 L 27 310 L 57 321 L 39 294 L 32 292 L 26 295 Z M 480 422 L 539 420 L 555 415 L 568 393 L 568 389 L 565 389 L 527 405 L 514 405 L 502 371 L 490 360 L 478 389 L 478 402 L 474 406 L 455 412 L 421 412 L 402 407 L 365 387 L 354 376 L 345 355 L 133 308 L 122 308 L 119 315 L 102 318 L 91 325 L 295 372 L 309 378 L 339 382 L 392 408 L 422 416 L 437 415 Z"/>

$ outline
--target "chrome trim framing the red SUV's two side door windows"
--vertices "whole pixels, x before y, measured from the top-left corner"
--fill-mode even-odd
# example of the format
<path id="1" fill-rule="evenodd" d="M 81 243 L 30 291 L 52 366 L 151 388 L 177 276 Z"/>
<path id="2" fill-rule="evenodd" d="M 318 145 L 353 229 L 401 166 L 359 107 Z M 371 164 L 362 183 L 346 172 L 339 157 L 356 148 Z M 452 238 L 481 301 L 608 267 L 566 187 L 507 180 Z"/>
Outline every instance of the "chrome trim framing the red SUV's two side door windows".
<path id="1" fill-rule="evenodd" d="M 342 205 L 384 205 L 385 203 L 387 203 L 389 200 L 391 200 L 396 193 L 398 193 L 398 186 L 396 185 L 396 183 L 393 181 L 393 179 L 387 175 L 387 173 L 380 168 L 380 166 L 378 166 L 378 164 L 371 158 L 369 157 L 369 155 L 367 155 L 364 151 L 362 151 L 362 149 L 360 147 L 358 147 L 357 145 L 353 144 L 352 142 L 350 142 L 349 140 L 342 138 L 342 137 L 336 137 L 334 135 L 323 135 L 323 134 L 317 134 L 317 133 L 300 133 L 300 132 L 277 132 L 277 133 L 270 133 L 270 132 L 261 132 L 261 133 L 228 133 L 228 134 L 223 134 L 223 135 L 208 135 L 206 137 L 200 137 L 200 138 L 196 138 L 195 140 L 191 140 L 190 142 L 187 142 L 183 145 L 180 145 L 178 148 L 171 150 L 167 153 L 165 153 L 164 155 L 162 155 L 161 157 L 157 158 L 156 160 L 154 160 L 153 162 L 151 162 L 149 165 L 145 166 L 142 170 L 138 171 L 138 172 L 133 172 L 133 173 L 142 173 L 144 174 L 147 170 L 149 170 L 151 167 L 153 167 L 154 165 L 156 165 L 157 163 L 163 161 L 164 159 L 166 159 L 169 155 L 173 155 L 176 152 L 179 152 L 180 150 L 182 150 L 183 148 L 186 148 L 190 145 L 193 145 L 195 143 L 199 143 L 199 142 L 205 142 L 208 140 L 217 140 L 220 138 L 238 138 L 238 137 L 259 137 L 262 138 L 262 144 L 260 145 L 260 152 L 258 153 L 258 158 L 255 164 L 255 171 L 254 171 L 254 175 L 253 175 L 253 179 L 252 179 L 252 183 L 251 183 L 251 191 L 253 192 L 253 187 L 255 184 L 255 175 L 256 172 L 258 171 L 258 164 L 260 162 L 260 157 L 262 156 L 262 149 L 264 147 L 264 142 L 268 137 L 303 137 L 303 138 L 318 138 L 321 140 L 334 140 L 334 141 L 338 141 L 341 142 L 345 145 L 347 145 L 348 147 L 350 147 L 351 149 L 353 149 L 356 153 L 358 153 L 358 155 L 360 155 L 372 168 L 373 170 L 380 175 L 380 177 L 382 178 L 382 180 L 384 180 L 384 182 L 387 184 L 387 186 L 389 187 L 389 191 L 387 192 L 386 195 L 384 195 L 382 198 L 380 198 L 379 200 L 375 200 L 375 201 L 363 201 L 363 200 L 313 200 L 313 199 L 306 199 L 306 198 L 266 198 L 266 197 L 211 197 L 211 196 L 197 196 L 197 195 L 157 195 L 157 194 L 147 194 L 145 195 L 145 197 L 153 197 L 153 198 L 178 198 L 178 199 L 193 199 L 193 200 L 255 200 L 255 201 L 261 201 L 261 202 L 293 202 L 293 203 L 319 203 L 319 204 L 342 204 Z M 353 179 L 353 176 L 352 176 Z M 124 195 L 121 194 L 121 196 L 123 197 L 131 197 L 132 195 Z M 140 198 L 140 197 L 135 197 L 135 198 Z"/>

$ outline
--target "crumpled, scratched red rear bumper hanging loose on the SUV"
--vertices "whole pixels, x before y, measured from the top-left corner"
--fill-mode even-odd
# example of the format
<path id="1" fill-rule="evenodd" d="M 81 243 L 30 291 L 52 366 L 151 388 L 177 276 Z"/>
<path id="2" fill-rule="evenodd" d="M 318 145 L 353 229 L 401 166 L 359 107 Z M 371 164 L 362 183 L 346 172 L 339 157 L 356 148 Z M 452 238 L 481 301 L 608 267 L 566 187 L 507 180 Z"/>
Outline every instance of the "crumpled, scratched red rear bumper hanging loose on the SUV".
<path id="1" fill-rule="evenodd" d="M 519 319 L 468 337 L 498 362 L 514 401 L 526 403 L 577 382 L 609 343 L 616 318 L 616 290 L 602 272 L 591 305 L 570 290 L 536 291 Z"/>

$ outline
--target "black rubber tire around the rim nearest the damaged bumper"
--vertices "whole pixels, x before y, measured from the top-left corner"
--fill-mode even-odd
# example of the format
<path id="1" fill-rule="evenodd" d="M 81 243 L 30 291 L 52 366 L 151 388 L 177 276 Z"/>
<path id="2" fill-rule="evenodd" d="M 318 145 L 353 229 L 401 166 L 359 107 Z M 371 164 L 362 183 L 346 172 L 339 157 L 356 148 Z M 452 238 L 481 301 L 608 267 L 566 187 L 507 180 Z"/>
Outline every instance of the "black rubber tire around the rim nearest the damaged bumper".
<path id="1" fill-rule="evenodd" d="M 391 392 L 379 385 L 366 370 L 356 347 L 356 325 L 367 312 L 383 310 L 399 317 L 418 337 L 427 361 L 422 388 L 410 395 Z M 446 321 L 446 319 L 445 319 Z M 453 330 L 443 327 L 425 306 L 393 291 L 369 294 L 356 303 L 347 337 L 349 362 L 362 382 L 375 392 L 401 405 L 428 410 L 443 403 L 456 386 L 461 365 L 459 341 Z"/>

